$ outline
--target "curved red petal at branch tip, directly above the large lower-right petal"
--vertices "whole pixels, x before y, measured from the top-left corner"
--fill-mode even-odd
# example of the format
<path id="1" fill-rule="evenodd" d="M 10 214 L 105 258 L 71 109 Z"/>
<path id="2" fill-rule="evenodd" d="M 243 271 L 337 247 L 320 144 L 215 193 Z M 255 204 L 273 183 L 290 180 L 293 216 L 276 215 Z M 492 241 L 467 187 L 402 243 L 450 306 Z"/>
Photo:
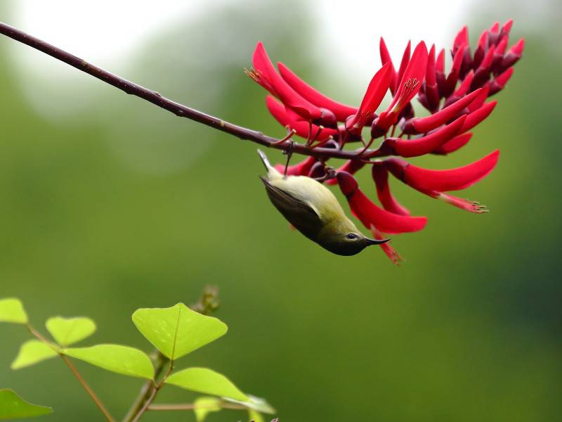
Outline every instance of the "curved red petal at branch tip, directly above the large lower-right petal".
<path id="1" fill-rule="evenodd" d="M 400 157 L 419 157 L 426 155 L 442 146 L 445 142 L 450 141 L 462 128 L 466 120 L 466 115 L 459 117 L 455 122 L 447 124 L 447 126 L 433 132 L 432 134 L 422 136 L 417 139 L 396 139 L 387 138 L 381 145 L 381 150 L 390 149 L 395 155 Z"/>

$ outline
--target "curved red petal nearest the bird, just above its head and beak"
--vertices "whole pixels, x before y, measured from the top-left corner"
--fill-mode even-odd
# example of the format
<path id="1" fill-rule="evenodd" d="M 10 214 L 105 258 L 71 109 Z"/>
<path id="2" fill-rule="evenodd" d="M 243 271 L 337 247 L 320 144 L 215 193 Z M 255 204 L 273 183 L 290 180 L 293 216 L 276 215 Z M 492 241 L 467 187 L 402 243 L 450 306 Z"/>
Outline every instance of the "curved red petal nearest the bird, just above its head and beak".
<path id="1" fill-rule="evenodd" d="M 367 229 L 375 226 L 380 231 L 384 231 L 384 233 L 399 234 L 419 231 L 425 227 L 427 223 L 426 217 L 409 217 L 393 214 L 372 203 L 358 188 L 357 181 L 355 181 L 351 174 L 346 172 L 338 173 L 337 180 L 341 191 L 348 200 L 351 211 Z M 353 186 L 355 186 L 354 189 Z"/>

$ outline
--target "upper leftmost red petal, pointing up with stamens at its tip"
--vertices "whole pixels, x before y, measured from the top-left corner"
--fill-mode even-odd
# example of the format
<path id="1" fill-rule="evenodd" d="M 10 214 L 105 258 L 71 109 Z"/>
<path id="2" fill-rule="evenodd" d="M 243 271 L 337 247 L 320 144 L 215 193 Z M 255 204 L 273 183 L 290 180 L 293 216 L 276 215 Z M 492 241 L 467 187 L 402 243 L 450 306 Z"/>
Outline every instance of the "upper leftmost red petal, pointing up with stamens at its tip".
<path id="1" fill-rule="evenodd" d="M 318 120 L 322 117 L 322 112 L 318 107 L 297 94 L 280 77 L 261 42 L 256 45 L 254 50 L 253 63 L 257 78 L 264 82 L 262 86 L 268 89 L 271 94 L 277 96 L 285 106 L 292 108 L 292 110 L 307 120 Z"/>

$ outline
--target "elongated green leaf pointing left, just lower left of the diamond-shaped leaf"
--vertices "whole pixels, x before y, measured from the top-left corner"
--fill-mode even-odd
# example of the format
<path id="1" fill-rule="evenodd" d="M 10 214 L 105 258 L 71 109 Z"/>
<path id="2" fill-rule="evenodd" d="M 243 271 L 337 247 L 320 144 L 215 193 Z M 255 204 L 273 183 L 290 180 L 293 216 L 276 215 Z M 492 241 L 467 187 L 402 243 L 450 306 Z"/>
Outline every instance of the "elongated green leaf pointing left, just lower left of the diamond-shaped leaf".
<path id="1" fill-rule="evenodd" d="M 60 350 L 67 356 L 80 359 L 107 371 L 137 378 L 154 378 L 154 366 L 150 357 L 133 347 L 121 345 L 96 345 Z"/>

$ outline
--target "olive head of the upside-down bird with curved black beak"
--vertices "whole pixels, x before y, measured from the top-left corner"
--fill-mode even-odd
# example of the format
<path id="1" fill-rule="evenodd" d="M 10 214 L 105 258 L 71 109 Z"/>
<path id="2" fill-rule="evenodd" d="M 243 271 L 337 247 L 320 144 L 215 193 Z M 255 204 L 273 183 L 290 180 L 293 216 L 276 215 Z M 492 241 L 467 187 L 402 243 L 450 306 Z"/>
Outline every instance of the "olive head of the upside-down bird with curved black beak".
<path id="1" fill-rule="evenodd" d="M 367 238 L 355 227 L 350 219 L 326 224 L 318 236 L 318 243 L 336 255 L 350 256 L 361 252 L 370 245 L 380 245 L 390 239 L 381 241 Z"/>

